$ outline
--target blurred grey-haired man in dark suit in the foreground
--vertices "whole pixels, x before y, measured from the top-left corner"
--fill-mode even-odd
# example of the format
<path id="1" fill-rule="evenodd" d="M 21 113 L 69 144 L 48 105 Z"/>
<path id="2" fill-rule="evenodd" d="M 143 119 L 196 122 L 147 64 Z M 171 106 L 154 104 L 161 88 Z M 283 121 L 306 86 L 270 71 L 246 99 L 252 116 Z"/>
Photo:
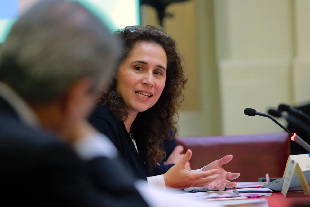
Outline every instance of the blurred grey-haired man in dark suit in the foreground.
<path id="1" fill-rule="evenodd" d="M 2 202 L 147 206 L 85 121 L 120 48 L 78 3 L 43 1 L 16 21 L 0 53 Z"/>

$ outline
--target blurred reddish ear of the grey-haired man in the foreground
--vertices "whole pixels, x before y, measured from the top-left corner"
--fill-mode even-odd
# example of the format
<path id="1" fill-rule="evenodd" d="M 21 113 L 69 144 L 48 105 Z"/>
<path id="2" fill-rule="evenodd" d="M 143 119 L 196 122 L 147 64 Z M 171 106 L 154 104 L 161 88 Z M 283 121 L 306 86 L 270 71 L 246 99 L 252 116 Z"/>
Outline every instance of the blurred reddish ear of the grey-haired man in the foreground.
<path id="1" fill-rule="evenodd" d="M 78 118 L 79 114 L 89 113 L 87 108 L 93 104 L 94 94 L 91 93 L 93 82 L 90 78 L 82 78 L 75 82 L 69 90 L 64 94 L 62 99 L 62 113 L 64 116 Z M 86 111 L 87 110 L 87 111 Z M 86 116 L 85 115 L 85 116 Z"/>

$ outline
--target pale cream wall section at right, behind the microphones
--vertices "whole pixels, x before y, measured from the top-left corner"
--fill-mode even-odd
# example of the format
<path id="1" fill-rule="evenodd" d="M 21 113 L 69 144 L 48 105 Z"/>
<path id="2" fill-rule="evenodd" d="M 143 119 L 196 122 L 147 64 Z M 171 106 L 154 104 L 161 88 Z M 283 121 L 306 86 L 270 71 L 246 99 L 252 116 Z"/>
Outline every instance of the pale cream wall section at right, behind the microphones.
<path id="1" fill-rule="evenodd" d="M 281 131 L 246 107 L 310 101 L 309 1 L 214 1 L 223 134 Z M 223 15 L 224 14 L 224 15 Z"/>

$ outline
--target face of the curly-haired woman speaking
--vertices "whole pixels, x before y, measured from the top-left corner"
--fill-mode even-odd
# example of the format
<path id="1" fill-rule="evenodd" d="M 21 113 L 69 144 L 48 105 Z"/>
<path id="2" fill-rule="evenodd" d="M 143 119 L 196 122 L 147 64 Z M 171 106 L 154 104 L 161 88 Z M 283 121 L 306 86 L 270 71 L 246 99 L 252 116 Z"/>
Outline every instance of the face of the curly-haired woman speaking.
<path id="1" fill-rule="evenodd" d="M 145 111 L 158 101 L 165 87 L 167 56 L 156 43 L 136 43 L 122 62 L 116 79 L 117 91 L 128 113 Z"/>

